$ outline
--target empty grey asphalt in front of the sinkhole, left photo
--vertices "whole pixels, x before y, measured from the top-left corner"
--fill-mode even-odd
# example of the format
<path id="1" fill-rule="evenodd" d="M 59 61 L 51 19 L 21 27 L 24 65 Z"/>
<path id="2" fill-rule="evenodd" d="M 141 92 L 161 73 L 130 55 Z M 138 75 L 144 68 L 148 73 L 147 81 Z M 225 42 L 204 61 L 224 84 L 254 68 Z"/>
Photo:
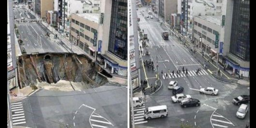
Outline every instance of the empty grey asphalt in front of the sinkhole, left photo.
<path id="1" fill-rule="evenodd" d="M 127 127 L 127 88 L 75 92 L 40 90 L 21 101 L 26 127 Z"/>

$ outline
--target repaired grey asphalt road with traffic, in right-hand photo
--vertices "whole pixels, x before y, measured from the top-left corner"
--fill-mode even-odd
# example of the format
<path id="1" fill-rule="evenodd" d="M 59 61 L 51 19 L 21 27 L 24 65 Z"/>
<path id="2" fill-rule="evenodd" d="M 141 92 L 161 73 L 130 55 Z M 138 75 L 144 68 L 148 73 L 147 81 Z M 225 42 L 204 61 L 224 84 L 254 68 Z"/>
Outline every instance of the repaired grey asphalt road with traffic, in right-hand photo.
<path id="1" fill-rule="evenodd" d="M 140 18 L 138 23 L 140 28 L 147 33 L 149 38 L 150 56 L 142 56 L 142 60 L 151 60 L 157 63 L 160 79 L 163 81 L 162 88 L 154 95 L 145 100 L 145 108 L 150 106 L 166 105 L 168 106 L 168 117 L 148 120 L 139 120 L 136 122 L 137 127 L 179 127 L 181 121 L 188 121 L 189 124 L 199 127 L 245 127 L 247 122 L 250 122 L 249 114 L 244 120 L 236 118 L 236 111 L 238 106 L 232 104 L 232 99 L 239 95 L 247 94 L 249 91 L 246 86 L 226 84 L 216 81 L 211 76 L 211 72 L 205 70 L 198 61 L 193 58 L 193 55 L 180 44 L 178 39 L 169 36 L 168 40 L 163 40 L 161 33 L 170 32 L 166 26 L 161 26 L 161 21 L 154 18 L 147 18 L 146 8 L 138 8 L 137 15 Z M 150 15 L 149 15 L 150 16 Z M 157 58 L 157 59 L 156 59 Z M 188 76 L 184 74 L 177 75 L 177 69 L 184 67 L 188 69 Z M 201 68 L 199 75 L 195 74 L 196 69 Z M 161 76 L 166 74 L 168 70 L 175 71 L 175 75 Z M 152 79 L 156 77 L 155 72 L 144 70 L 146 76 L 143 74 L 142 79 Z M 171 100 L 172 90 L 168 90 L 167 85 L 170 81 L 178 81 L 180 86 L 184 87 L 184 94 L 191 95 L 191 97 L 200 100 L 201 106 L 192 108 L 181 108 L 179 103 L 173 103 Z M 200 94 L 200 88 L 214 87 L 219 90 L 217 96 Z M 237 91 L 236 91 L 237 90 Z M 239 90 L 239 91 L 238 91 Z M 250 111 L 250 109 L 249 109 Z M 138 118 L 137 118 L 138 120 Z M 140 123 L 141 122 L 141 123 Z"/>

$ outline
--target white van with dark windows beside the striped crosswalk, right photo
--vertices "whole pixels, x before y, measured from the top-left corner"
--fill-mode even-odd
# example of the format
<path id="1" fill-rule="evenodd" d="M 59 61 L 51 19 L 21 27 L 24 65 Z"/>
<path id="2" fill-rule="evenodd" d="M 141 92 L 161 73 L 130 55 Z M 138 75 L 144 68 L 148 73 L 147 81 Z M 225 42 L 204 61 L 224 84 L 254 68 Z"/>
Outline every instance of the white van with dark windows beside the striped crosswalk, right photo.
<path id="1" fill-rule="evenodd" d="M 145 109 L 144 118 L 150 120 L 151 118 L 163 118 L 168 116 L 167 106 L 154 106 Z"/>

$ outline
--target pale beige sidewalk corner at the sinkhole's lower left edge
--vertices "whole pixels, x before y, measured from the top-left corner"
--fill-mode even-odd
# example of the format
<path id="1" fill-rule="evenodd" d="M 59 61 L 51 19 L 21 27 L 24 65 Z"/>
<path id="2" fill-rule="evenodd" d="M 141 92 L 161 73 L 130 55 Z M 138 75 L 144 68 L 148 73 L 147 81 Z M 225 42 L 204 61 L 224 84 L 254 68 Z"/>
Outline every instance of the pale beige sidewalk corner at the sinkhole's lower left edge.
<path id="1" fill-rule="evenodd" d="M 37 90 L 32 90 L 30 86 L 26 86 L 22 89 L 16 87 L 12 90 L 12 93 L 10 93 L 10 101 L 18 102 L 19 100 L 26 99 L 27 96 L 32 95 L 35 92 L 38 92 L 38 90 L 40 90 L 40 88 L 38 88 Z"/>

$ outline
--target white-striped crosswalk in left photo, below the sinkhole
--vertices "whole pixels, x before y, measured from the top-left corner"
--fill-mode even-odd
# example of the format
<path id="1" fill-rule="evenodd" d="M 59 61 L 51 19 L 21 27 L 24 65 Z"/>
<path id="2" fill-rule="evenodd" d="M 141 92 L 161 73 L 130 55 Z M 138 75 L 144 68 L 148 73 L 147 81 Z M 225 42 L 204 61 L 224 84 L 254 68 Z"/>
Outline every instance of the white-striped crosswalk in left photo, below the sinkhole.
<path id="1" fill-rule="evenodd" d="M 26 118 L 22 102 L 15 102 L 11 104 L 12 109 L 12 122 L 13 125 L 26 124 Z"/>

